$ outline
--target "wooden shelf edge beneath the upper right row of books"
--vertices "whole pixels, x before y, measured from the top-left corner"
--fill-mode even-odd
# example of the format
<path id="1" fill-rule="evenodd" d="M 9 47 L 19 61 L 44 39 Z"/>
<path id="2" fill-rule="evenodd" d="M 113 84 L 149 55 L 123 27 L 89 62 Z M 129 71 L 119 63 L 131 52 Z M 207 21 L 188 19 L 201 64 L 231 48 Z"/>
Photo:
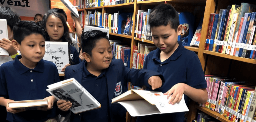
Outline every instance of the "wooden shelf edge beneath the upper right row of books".
<path id="1" fill-rule="evenodd" d="M 243 57 L 218 53 L 218 52 L 209 51 L 209 50 L 204 50 L 203 53 L 209 54 L 209 55 L 215 55 L 215 56 L 219 56 L 219 57 L 223 57 L 223 58 L 233 59 L 233 60 L 237 60 L 237 61 L 242 61 L 242 62 L 246 62 L 246 63 L 256 64 L 255 59 L 243 58 Z"/>

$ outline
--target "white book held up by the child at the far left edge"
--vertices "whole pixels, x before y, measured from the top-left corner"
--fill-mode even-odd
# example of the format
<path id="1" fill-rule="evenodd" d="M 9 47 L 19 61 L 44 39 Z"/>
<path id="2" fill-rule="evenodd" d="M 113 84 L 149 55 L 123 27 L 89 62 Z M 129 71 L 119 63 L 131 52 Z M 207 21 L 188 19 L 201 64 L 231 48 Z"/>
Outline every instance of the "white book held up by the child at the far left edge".
<path id="1" fill-rule="evenodd" d="M 8 38 L 7 22 L 5 19 L 0 19 L 0 39 Z M 9 53 L 0 47 L 0 55 L 8 56 Z"/>

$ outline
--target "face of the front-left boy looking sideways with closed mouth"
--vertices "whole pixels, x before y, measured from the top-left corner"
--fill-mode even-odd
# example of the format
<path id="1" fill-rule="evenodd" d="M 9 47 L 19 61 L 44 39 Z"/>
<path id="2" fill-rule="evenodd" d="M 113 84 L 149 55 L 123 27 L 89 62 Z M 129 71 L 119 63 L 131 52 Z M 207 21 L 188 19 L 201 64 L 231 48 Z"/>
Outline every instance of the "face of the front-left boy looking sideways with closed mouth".
<path id="1" fill-rule="evenodd" d="M 37 63 L 45 53 L 45 40 L 41 34 L 31 34 L 26 36 L 21 44 L 17 44 L 22 60 L 27 63 Z"/>

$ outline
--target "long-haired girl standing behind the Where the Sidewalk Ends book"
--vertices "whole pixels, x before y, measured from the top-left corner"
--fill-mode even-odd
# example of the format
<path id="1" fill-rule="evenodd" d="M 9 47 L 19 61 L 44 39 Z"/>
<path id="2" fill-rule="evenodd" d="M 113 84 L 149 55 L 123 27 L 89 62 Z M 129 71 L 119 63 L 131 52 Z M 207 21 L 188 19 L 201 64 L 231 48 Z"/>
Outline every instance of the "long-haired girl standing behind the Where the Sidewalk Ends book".
<path id="1" fill-rule="evenodd" d="M 64 72 L 67 66 L 78 64 L 79 55 L 76 48 L 72 46 L 73 43 L 69 37 L 69 29 L 63 14 L 48 10 L 47 15 L 43 17 L 42 27 L 47 32 L 46 41 L 68 42 L 69 64 L 65 65 L 61 71 Z"/>

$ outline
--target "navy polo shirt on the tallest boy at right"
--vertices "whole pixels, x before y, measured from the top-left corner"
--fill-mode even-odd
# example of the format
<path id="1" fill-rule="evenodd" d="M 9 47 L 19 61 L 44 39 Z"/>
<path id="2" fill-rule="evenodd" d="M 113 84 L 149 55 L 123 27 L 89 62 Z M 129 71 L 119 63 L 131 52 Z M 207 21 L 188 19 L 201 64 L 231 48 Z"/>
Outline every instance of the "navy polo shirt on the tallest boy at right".
<path id="1" fill-rule="evenodd" d="M 178 48 L 163 62 L 160 60 L 161 50 L 159 48 L 147 55 L 143 69 L 156 71 L 163 75 L 165 79 L 162 87 L 154 91 L 165 93 L 178 83 L 184 83 L 196 89 L 207 88 L 198 56 L 193 51 L 184 48 L 181 41 L 178 41 L 178 43 Z M 153 91 L 151 88 L 147 88 L 147 90 Z M 188 105 L 188 96 L 184 95 L 184 97 Z M 184 112 L 155 114 L 138 117 L 137 121 L 168 120 L 171 122 L 183 122 L 184 114 Z"/>

